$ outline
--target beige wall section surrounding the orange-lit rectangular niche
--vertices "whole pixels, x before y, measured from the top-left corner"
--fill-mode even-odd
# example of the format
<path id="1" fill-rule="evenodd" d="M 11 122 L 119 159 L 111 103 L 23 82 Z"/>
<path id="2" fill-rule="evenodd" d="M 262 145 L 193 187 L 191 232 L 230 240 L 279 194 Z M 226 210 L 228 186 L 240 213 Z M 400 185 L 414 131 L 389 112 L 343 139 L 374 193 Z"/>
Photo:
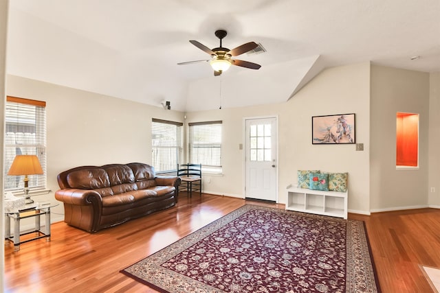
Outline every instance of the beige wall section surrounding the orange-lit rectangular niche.
<path id="1" fill-rule="evenodd" d="M 396 113 L 418 113 L 419 169 L 396 169 Z M 429 73 L 371 67 L 371 211 L 428 204 Z"/>

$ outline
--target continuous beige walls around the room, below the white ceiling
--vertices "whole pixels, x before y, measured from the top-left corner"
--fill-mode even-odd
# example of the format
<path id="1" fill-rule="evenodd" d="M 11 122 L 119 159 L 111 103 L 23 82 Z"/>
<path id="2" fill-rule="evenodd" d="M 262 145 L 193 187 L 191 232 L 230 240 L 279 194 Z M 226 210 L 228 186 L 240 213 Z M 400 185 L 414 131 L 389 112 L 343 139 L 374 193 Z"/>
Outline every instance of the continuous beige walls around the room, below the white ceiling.
<path id="1" fill-rule="evenodd" d="M 288 102 L 190 112 L 187 119 L 185 113 L 12 75 L 7 85 L 8 95 L 47 102 L 47 185 L 52 192 L 39 200 L 54 201 L 56 175 L 70 167 L 151 162 L 152 117 L 185 125 L 222 120 L 223 175 L 205 176 L 204 190 L 243 198 L 243 150 L 239 150 L 243 121 L 276 116 L 279 202 L 285 203 L 285 187 L 296 184 L 296 170 L 321 169 L 349 172 L 349 211 L 428 204 L 428 73 L 371 67 L 369 62 L 334 67 L 322 71 Z M 397 110 L 421 114 L 421 168 L 417 171 L 395 170 Z M 344 113 L 355 113 L 355 138 L 364 143 L 364 151 L 355 151 L 355 145 L 311 144 L 312 116 Z M 416 192 L 421 196 L 413 196 Z M 55 213 L 54 220 L 62 219 L 58 214 L 63 207 Z"/>

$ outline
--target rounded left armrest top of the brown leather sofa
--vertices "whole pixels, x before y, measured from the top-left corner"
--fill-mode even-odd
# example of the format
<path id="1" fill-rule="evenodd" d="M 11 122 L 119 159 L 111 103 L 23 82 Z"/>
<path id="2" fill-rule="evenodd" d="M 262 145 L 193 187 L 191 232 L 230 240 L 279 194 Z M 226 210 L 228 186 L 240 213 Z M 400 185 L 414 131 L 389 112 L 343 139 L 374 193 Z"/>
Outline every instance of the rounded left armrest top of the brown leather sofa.
<path id="1" fill-rule="evenodd" d="M 56 200 L 74 205 L 94 204 L 98 209 L 102 208 L 102 198 L 98 192 L 85 189 L 60 189 L 55 192 Z"/>

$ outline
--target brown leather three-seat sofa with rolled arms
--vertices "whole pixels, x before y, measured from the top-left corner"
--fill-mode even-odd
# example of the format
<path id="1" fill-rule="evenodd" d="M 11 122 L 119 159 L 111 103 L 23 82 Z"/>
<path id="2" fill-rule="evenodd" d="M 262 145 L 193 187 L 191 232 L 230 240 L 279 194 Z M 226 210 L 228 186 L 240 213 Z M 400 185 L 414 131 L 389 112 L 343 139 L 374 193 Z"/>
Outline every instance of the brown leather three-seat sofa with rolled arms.
<path id="1" fill-rule="evenodd" d="M 155 176 L 143 163 L 81 166 L 58 174 L 64 221 L 93 233 L 177 203 L 179 177 Z"/>

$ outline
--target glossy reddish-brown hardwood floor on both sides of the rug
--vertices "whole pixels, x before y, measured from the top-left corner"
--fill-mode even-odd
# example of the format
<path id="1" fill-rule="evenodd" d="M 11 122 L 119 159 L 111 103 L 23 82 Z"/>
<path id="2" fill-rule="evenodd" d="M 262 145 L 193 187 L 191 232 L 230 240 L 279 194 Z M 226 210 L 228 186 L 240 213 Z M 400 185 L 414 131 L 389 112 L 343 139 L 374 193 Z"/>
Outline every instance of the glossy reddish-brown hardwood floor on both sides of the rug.
<path id="1" fill-rule="evenodd" d="M 52 241 L 39 239 L 14 253 L 5 246 L 5 292 L 155 292 L 119 271 L 245 203 L 239 198 L 179 196 L 176 207 L 89 234 L 52 224 Z M 419 265 L 440 267 L 440 211 L 419 209 L 364 220 L 382 292 L 432 292 Z"/>

